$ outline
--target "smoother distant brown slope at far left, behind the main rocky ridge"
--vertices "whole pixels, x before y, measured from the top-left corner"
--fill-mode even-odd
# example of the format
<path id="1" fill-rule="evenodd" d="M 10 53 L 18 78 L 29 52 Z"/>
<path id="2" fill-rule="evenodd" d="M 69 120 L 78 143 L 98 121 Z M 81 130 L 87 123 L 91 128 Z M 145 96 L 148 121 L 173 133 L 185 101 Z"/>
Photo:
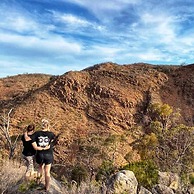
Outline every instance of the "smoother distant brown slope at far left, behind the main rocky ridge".
<path id="1" fill-rule="evenodd" d="M 51 75 L 23 74 L 0 79 L 0 107 L 1 112 L 6 107 L 21 104 L 30 94 L 48 83 Z"/>

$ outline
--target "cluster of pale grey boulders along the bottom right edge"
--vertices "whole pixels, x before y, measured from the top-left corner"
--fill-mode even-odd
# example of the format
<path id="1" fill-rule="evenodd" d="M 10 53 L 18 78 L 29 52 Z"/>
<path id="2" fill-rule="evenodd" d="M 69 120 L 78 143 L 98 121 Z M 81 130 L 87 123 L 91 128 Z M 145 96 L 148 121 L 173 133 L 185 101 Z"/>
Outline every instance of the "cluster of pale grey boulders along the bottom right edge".
<path id="1" fill-rule="evenodd" d="M 194 194 L 194 187 L 185 188 L 176 173 L 159 172 L 158 184 L 147 190 L 138 185 L 132 171 L 122 170 L 114 174 L 107 182 L 106 194 Z M 103 194 L 104 194 L 103 193 Z"/>

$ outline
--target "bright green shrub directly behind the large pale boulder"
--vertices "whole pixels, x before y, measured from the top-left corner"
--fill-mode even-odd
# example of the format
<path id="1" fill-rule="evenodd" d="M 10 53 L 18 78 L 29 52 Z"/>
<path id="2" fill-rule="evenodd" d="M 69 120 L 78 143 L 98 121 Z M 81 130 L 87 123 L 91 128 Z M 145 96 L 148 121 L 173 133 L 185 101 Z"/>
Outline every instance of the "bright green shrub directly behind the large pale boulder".
<path id="1" fill-rule="evenodd" d="M 151 161 L 129 163 L 122 169 L 133 171 L 138 183 L 148 189 L 158 182 L 158 169 Z"/>

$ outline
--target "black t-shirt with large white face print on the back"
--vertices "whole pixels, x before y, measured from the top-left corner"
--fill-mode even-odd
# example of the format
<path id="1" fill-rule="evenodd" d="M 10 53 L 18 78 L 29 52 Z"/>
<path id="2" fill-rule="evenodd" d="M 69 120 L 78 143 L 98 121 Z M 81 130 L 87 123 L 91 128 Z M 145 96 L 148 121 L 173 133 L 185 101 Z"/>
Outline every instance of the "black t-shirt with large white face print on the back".
<path id="1" fill-rule="evenodd" d="M 36 142 L 37 146 L 40 147 L 46 147 L 48 145 L 50 145 L 50 149 L 48 150 L 38 150 L 37 152 L 44 152 L 44 153 L 53 153 L 53 146 L 52 146 L 52 140 L 54 140 L 55 135 L 53 132 L 50 131 L 36 131 L 31 139 L 32 139 L 32 143 Z"/>

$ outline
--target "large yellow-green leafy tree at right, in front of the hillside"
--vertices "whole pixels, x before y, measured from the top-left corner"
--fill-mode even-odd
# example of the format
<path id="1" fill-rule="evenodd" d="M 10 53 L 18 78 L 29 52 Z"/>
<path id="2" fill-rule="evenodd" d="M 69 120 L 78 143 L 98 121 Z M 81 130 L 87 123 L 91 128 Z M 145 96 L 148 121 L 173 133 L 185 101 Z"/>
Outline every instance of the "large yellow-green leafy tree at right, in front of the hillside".
<path id="1" fill-rule="evenodd" d="M 142 159 L 152 159 L 164 171 L 192 171 L 194 127 L 179 124 L 179 113 L 167 104 L 151 105 L 149 114 L 149 133 L 136 144 Z"/>

